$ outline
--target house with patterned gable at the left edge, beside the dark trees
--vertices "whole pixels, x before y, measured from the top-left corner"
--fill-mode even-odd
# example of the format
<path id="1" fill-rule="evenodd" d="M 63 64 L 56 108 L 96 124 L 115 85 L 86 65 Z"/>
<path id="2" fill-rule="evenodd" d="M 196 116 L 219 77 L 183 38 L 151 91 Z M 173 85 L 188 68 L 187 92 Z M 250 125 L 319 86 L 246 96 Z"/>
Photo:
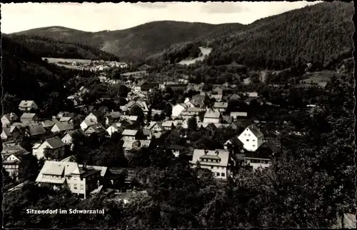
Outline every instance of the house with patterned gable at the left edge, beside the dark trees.
<path id="1" fill-rule="evenodd" d="M 9 176 L 16 180 L 17 176 L 19 175 L 19 165 L 26 156 L 29 156 L 29 152 L 24 150 L 16 151 L 12 154 L 1 155 L 3 158 L 2 164 L 5 171 L 9 173 Z"/>

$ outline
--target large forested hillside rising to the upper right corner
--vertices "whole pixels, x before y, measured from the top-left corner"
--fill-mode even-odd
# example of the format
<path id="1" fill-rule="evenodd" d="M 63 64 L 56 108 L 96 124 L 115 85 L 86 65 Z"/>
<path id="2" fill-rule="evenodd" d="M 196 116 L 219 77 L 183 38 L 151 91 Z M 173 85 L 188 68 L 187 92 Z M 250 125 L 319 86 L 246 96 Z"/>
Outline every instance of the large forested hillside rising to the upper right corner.
<path id="1" fill-rule="evenodd" d="M 353 51 L 353 2 L 306 6 L 249 24 L 215 39 L 207 63 L 285 69 L 301 63 L 327 66 Z M 340 60 L 341 61 L 341 60 Z"/>

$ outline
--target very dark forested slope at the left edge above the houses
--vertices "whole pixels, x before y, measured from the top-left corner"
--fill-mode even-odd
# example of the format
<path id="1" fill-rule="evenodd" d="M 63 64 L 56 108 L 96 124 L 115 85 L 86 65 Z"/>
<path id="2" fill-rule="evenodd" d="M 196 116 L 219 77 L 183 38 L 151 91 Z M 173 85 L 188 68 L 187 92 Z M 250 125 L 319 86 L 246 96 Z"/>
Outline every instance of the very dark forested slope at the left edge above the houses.
<path id="1" fill-rule="evenodd" d="M 16 111 L 13 106 L 21 100 L 35 100 L 36 104 L 52 112 L 71 108 L 66 104 L 68 92 L 64 89 L 64 82 L 80 71 L 48 64 L 42 61 L 41 56 L 7 36 L 1 39 L 1 49 L 4 111 Z"/>

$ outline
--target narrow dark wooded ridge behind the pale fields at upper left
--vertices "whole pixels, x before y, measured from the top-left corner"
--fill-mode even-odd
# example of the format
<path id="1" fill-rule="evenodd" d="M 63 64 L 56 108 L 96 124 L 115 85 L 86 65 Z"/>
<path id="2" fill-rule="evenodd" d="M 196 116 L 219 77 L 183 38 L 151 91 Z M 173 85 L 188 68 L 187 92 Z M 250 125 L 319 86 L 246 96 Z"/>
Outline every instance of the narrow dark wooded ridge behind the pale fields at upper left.
<path id="1" fill-rule="evenodd" d="M 119 57 L 114 54 L 83 44 L 71 44 L 37 35 L 11 34 L 6 36 L 42 57 L 119 61 Z"/>

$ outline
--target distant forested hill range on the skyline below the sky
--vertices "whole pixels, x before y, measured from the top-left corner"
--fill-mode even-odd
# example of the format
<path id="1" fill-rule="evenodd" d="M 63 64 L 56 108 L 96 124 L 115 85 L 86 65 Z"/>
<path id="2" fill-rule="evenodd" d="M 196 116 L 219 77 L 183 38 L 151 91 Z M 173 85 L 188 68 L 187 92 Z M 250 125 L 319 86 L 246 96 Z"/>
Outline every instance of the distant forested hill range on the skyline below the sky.
<path id="1" fill-rule="evenodd" d="M 183 21 L 153 21 L 116 31 L 92 33 L 62 26 L 51 26 L 15 34 L 36 35 L 70 44 L 84 44 L 119 56 L 125 61 L 144 59 L 176 43 L 217 37 L 238 31 L 243 27 L 242 24 L 213 25 Z"/>

